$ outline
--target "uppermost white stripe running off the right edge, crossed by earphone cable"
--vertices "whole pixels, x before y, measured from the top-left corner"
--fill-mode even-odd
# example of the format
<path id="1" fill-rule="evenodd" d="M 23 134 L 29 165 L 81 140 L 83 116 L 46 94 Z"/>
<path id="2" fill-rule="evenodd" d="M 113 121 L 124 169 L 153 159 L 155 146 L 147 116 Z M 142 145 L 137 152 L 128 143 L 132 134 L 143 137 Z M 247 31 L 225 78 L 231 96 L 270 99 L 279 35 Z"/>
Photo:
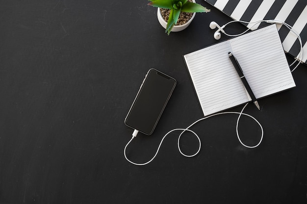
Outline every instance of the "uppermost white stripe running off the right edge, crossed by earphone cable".
<path id="1" fill-rule="evenodd" d="M 307 6 L 304 8 L 303 12 L 296 20 L 292 28 L 297 32 L 301 33 L 307 23 Z M 292 45 L 295 43 L 297 36 L 293 32 L 289 32 L 286 38 L 282 42 L 284 51 L 289 52 Z M 305 53 L 306 54 L 306 53 Z"/>

